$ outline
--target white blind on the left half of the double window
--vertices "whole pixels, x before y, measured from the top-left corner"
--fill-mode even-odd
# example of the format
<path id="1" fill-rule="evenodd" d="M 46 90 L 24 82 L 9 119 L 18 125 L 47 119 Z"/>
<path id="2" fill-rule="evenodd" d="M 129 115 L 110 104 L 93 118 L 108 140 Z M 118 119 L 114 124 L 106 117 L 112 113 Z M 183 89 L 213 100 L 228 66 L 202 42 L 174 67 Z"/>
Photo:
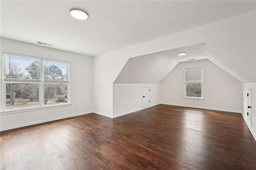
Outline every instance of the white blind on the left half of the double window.
<path id="1" fill-rule="evenodd" d="M 40 82 L 40 58 L 4 53 L 5 82 Z"/>

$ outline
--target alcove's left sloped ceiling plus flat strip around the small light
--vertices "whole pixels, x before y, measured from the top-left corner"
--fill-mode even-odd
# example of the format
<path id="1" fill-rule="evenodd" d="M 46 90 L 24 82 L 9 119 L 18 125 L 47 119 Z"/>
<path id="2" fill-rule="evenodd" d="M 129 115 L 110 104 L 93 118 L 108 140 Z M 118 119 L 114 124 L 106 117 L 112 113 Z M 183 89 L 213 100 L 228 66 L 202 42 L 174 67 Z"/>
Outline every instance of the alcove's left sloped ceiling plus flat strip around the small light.
<path id="1" fill-rule="evenodd" d="M 179 62 L 207 59 L 202 51 L 205 45 L 201 43 L 130 58 L 114 83 L 161 83 Z M 178 55 L 184 51 L 186 55 Z"/>

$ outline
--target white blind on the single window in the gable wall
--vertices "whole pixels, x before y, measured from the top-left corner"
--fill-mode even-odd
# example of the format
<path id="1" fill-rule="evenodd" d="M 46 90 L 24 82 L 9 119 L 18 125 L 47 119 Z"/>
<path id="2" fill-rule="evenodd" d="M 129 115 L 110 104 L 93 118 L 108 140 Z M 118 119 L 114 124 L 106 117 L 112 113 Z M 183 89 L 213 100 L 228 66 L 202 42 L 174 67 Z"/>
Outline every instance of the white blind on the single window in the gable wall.
<path id="1" fill-rule="evenodd" d="M 184 76 L 185 83 L 202 83 L 203 82 L 203 68 L 185 69 Z"/>

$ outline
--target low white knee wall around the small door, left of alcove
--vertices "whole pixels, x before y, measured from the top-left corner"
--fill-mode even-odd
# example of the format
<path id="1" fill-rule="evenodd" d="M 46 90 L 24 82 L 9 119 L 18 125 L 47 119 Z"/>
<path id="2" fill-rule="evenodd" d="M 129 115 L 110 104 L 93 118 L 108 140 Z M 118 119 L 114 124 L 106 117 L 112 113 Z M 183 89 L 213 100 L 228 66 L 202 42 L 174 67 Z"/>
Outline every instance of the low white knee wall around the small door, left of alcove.
<path id="1" fill-rule="evenodd" d="M 150 106 L 159 104 L 160 84 L 113 84 L 113 117 L 145 109 L 142 108 L 142 87 L 150 87 Z M 126 107 L 124 106 L 126 105 Z"/>

